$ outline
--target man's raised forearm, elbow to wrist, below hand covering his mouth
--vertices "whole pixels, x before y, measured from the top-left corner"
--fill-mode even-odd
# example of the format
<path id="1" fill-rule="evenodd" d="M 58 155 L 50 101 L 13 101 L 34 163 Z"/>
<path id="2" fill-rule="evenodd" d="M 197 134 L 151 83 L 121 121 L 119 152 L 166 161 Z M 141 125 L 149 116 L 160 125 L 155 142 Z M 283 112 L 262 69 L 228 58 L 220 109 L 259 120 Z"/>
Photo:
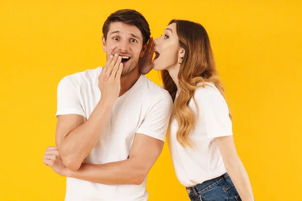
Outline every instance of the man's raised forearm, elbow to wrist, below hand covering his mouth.
<path id="1" fill-rule="evenodd" d="M 71 131 L 58 145 L 62 161 L 69 169 L 78 169 L 98 142 L 108 121 L 113 103 L 100 100 L 90 118 Z"/>

